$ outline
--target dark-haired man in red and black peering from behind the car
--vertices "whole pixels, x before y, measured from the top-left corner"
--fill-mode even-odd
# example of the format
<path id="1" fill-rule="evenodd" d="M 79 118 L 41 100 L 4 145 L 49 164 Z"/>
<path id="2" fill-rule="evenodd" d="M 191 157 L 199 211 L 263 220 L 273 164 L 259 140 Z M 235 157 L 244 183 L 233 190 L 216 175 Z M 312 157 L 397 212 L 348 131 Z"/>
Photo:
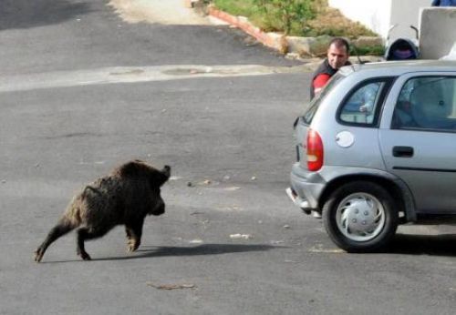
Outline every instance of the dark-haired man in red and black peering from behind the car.
<path id="1" fill-rule="evenodd" d="M 318 66 L 312 77 L 310 99 L 314 98 L 326 86 L 327 81 L 337 73 L 341 66 L 351 65 L 348 61 L 349 50 L 350 46 L 344 38 L 336 37 L 329 43 L 326 59 Z"/>

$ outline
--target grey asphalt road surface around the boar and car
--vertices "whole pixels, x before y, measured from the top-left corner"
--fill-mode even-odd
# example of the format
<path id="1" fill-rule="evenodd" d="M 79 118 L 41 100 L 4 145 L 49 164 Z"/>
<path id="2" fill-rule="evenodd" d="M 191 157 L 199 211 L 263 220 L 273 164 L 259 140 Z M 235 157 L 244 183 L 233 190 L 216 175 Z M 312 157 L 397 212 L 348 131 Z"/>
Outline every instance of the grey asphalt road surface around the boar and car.
<path id="1" fill-rule="evenodd" d="M 249 43 L 101 0 L 2 1 L 1 314 L 454 313 L 453 228 L 352 255 L 287 199 L 309 74 Z M 172 167 L 140 250 L 117 228 L 82 261 L 72 233 L 36 264 L 72 194 L 131 158 Z"/>

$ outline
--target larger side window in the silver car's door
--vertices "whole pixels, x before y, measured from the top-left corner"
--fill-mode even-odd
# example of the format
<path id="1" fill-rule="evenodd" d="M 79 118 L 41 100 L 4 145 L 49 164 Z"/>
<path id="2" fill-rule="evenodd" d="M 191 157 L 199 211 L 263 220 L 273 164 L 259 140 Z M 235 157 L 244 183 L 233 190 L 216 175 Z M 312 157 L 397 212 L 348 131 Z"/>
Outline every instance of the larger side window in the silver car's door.
<path id="1" fill-rule="evenodd" d="M 400 91 L 391 127 L 456 132 L 456 77 L 410 78 Z"/>

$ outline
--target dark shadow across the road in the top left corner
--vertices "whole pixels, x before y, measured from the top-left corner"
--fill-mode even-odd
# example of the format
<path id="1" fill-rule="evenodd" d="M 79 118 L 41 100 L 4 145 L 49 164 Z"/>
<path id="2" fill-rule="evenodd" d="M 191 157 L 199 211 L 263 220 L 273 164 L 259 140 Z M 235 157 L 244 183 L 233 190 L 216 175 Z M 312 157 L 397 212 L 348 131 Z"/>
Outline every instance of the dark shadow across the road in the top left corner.
<path id="1" fill-rule="evenodd" d="M 90 2 L 72 0 L 1 0 L 0 30 L 64 22 L 91 12 Z"/>

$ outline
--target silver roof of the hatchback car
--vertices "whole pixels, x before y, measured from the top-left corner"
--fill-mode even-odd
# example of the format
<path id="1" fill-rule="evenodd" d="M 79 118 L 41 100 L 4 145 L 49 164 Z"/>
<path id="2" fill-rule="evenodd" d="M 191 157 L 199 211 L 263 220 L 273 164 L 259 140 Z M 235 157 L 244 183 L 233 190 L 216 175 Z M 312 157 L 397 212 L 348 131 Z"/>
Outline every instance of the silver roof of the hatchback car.
<path id="1" fill-rule="evenodd" d="M 399 76 L 409 72 L 454 72 L 456 74 L 456 61 L 454 60 L 410 60 L 410 61 L 384 61 L 367 64 L 354 64 L 344 66 L 339 70 L 342 75 L 353 73 L 372 73 L 375 76 Z"/>

